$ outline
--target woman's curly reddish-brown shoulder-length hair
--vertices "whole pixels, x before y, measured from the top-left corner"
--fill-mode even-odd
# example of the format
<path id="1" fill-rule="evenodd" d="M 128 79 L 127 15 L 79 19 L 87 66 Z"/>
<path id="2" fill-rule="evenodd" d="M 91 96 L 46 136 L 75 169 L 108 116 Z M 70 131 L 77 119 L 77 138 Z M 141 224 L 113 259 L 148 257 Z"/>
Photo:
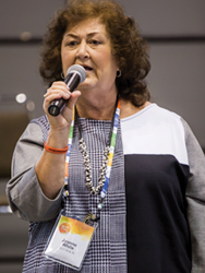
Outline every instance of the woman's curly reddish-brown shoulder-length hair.
<path id="1" fill-rule="evenodd" d="M 133 105 L 142 106 L 150 98 L 145 82 L 150 70 L 148 47 L 136 22 L 125 16 L 123 8 L 114 0 L 70 0 L 57 12 L 44 38 L 40 75 L 49 84 L 62 80 L 61 43 L 67 28 L 96 17 L 106 26 L 121 70 L 121 76 L 116 79 L 118 93 Z"/>

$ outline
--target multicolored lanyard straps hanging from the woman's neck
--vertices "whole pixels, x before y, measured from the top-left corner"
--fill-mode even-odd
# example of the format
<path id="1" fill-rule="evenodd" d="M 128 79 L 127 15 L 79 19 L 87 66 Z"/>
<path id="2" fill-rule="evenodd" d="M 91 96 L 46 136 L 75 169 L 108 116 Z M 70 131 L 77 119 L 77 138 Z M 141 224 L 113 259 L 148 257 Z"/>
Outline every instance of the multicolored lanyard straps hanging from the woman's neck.
<path id="1" fill-rule="evenodd" d="M 102 210 L 102 201 L 106 197 L 108 186 L 109 186 L 119 119 L 120 119 L 120 98 L 117 100 L 117 107 L 116 107 L 116 111 L 114 111 L 113 119 L 112 119 L 112 131 L 111 131 L 111 135 L 110 135 L 110 152 L 109 152 L 109 157 L 108 157 L 108 163 L 107 163 L 107 168 L 106 168 L 106 176 L 105 176 L 106 180 L 105 180 L 104 187 L 102 187 L 101 192 L 100 192 L 100 201 L 99 201 L 99 204 L 97 206 L 98 210 Z M 70 156 L 71 156 L 71 149 L 72 149 L 72 141 L 73 141 L 74 120 L 75 120 L 75 108 L 73 107 L 73 119 L 72 119 L 70 134 L 69 134 L 69 150 L 67 152 L 67 157 L 65 157 L 65 176 L 64 176 L 64 189 L 65 189 L 64 195 L 65 197 L 69 195 L 69 188 L 68 188 L 69 161 L 70 161 Z"/>

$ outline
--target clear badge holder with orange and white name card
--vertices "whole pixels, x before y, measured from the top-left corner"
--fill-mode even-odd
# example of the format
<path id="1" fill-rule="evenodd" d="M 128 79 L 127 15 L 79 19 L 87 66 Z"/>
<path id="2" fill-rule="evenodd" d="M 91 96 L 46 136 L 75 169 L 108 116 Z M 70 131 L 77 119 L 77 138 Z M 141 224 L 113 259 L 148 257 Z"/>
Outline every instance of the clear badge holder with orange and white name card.
<path id="1" fill-rule="evenodd" d="M 92 217 L 83 222 L 60 213 L 48 239 L 44 256 L 47 259 L 80 271 L 97 223 Z"/>

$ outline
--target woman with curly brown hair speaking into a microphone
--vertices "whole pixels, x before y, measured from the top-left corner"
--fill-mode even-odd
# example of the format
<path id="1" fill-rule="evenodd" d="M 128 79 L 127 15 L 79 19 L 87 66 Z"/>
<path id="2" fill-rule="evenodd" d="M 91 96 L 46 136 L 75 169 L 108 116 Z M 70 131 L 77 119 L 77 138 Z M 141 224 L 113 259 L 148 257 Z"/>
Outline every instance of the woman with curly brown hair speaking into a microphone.
<path id="1" fill-rule="evenodd" d="M 86 79 L 70 93 L 62 78 L 72 64 Z M 74 272 L 43 254 L 61 209 L 98 223 L 81 272 L 204 272 L 204 155 L 181 117 L 150 104 L 148 71 L 146 44 L 117 2 L 71 1 L 51 22 L 40 68 L 46 116 L 21 136 L 7 189 L 14 214 L 31 222 L 24 272 Z M 61 97 L 67 106 L 50 116 Z"/>

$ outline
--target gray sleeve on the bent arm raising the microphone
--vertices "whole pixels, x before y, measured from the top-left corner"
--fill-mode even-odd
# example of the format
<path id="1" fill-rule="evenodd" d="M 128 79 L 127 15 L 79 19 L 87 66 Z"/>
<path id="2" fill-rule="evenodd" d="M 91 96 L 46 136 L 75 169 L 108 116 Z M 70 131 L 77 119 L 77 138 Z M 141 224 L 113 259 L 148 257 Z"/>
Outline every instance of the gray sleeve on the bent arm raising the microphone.
<path id="1" fill-rule="evenodd" d="M 41 191 L 35 165 L 44 149 L 43 132 L 29 123 L 20 138 L 12 158 L 11 180 L 7 194 L 13 213 L 27 221 L 44 222 L 56 217 L 61 210 L 62 190 L 55 200 Z"/>

